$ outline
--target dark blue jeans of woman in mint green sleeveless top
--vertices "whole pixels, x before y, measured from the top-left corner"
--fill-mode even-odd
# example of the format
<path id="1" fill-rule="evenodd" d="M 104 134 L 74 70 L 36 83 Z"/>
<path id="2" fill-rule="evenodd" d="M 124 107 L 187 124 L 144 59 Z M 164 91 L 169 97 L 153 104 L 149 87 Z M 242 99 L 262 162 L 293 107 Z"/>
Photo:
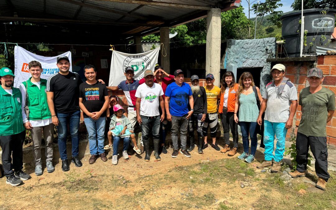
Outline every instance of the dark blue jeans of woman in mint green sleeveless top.
<path id="1" fill-rule="evenodd" d="M 251 138 L 251 155 L 255 155 L 255 151 L 257 150 L 258 140 L 257 140 L 257 132 L 255 130 L 257 126 L 257 122 L 239 122 L 240 129 L 242 131 L 243 137 L 243 146 L 244 152 L 249 153 L 249 134 Z"/>

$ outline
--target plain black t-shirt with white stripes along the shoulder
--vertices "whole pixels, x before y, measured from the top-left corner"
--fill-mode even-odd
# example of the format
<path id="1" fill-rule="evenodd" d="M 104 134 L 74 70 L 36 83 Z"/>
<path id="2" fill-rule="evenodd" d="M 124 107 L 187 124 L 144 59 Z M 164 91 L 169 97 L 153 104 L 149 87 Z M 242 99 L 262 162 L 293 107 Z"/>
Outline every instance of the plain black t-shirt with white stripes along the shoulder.
<path id="1" fill-rule="evenodd" d="M 46 91 L 54 93 L 56 113 L 79 111 L 79 85 L 82 82 L 79 74 L 74 72 L 69 72 L 68 75 L 62 75 L 58 72 L 49 77 Z"/>

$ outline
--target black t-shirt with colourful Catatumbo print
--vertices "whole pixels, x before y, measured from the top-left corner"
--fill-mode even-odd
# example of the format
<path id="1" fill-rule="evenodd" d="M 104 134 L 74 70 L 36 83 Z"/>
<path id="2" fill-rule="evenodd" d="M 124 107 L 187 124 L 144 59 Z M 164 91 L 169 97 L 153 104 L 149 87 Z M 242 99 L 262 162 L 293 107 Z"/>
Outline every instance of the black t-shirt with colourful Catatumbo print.
<path id="1" fill-rule="evenodd" d="M 99 112 L 105 103 L 105 96 L 108 96 L 106 85 L 96 82 L 90 85 L 83 82 L 79 85 L 79 97 L 83 98 L 83 104 L 89 112 Z M 103 112 L 100 117 L 105 117 L 106 112 Z M 88 116 L 83 112 L 83 117 Z"/>

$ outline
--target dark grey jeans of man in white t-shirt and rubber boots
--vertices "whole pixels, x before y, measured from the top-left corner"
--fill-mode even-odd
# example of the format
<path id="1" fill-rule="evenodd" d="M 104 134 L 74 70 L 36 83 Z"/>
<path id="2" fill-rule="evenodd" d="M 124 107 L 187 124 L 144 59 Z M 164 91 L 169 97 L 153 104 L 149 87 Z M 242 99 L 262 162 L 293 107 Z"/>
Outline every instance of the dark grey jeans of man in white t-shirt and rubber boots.
<path id="1" fill-rule="evenodd" d="M 160 139 L 160 115 L 155 117 L 146 117 L 140 115 L 142 124 L 141 124 L 141 132 L 142 132 L 142 140 L 148 140 L 150 136 L 150 131 L 152 129 L 153 140 Z"/>

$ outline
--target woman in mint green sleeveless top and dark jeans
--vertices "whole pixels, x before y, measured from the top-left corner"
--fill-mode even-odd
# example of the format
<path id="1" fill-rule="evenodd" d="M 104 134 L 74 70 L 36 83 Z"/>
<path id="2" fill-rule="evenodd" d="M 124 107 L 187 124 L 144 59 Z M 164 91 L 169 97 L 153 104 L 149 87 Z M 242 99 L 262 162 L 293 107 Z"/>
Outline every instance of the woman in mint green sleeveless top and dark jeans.
<path id="1" fill-rule="evenodd" d="M 239 159 L 245 160 L 251 163 L 254 160 L 255 152 L 257 150 L 258 140 L 257 140 L 257 118 L 259 115 L 259 109 L 257 106 L 257 99 L 254 92 L 254 81 L 252 74 L 250 72 L 244 72 L 238 82 L 238 94 L 236 96 L 235 104 L 235 122 L 238 123 L 242 131 L 244 152 Z M 257 95 L 260 101 L 262 101 L 260 90 L 255 87 Z M 237 117 L 237 112 L 239 109 L 239 119 Z M 249 134 L 251 138 L 251 153 L 249 153 Z"/>

